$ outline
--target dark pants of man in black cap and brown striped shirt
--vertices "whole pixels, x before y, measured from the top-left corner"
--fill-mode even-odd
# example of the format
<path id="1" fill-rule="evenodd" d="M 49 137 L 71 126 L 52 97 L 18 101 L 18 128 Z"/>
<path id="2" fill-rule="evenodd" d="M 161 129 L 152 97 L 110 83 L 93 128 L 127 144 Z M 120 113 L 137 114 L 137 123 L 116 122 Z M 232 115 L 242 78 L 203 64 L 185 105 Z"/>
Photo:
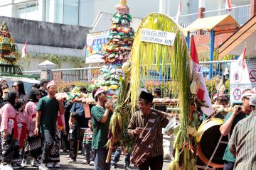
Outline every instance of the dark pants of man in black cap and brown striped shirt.
<path id="1" fill-rule="evenodd" d="M 151 157 L 149 159 L 146 159 L 146 162 L 143 164 L 140 164 L 138 166 L 139 170 L 161 170 L 163 168 L 163 162 L 164 162 L 164 156 L 163 154 L 157 156 L 157 157 Z"/>

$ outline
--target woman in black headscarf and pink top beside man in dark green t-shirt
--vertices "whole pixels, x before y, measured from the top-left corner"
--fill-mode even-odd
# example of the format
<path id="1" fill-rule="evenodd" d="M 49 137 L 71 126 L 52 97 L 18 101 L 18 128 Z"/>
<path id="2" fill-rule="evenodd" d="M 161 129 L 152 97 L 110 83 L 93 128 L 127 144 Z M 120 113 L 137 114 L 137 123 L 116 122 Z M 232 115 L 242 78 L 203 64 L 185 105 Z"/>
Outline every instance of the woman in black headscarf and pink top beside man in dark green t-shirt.
<path id="1" fill-rule="evenodd" d="M 40 91 L 38 89 L 32 89 L 28 94 L 28 103 L 26 103 L 25 111 L 28 113 L 28 139 L 26 142 L 26 147 L 24 149 L 22 166 L 27 166 L 26 164 L 26 152 L 30 152 L 31 157 L 33 157 L 32 166 L 39 167 L 38 156 L 41 154 L 41 135 L 36 135 L 34 130 L 36 128 L 36 107 L 38 101 L 41 98 Z"/>

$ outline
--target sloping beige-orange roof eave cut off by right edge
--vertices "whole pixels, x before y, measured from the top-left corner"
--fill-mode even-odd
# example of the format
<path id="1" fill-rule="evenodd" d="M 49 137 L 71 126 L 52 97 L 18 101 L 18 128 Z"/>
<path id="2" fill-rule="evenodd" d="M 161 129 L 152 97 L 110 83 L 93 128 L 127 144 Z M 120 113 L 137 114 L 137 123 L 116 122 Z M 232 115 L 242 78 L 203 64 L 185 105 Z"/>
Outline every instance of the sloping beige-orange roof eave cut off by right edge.
<path id="1" fill-rule="evenodd" d="M 256 15 L 230 36 L 219 47 L 220 59 L 225 55 L 241 55 L 246 43 L 246 55 L 256 57 Z"/>

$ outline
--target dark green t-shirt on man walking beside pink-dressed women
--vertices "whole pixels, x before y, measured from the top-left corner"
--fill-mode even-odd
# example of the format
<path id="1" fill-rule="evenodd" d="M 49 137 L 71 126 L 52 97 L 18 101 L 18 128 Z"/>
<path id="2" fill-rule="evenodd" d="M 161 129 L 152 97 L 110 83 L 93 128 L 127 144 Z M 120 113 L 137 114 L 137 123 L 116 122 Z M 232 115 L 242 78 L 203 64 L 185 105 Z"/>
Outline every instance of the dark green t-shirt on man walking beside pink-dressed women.
<path id="1" fill-rule="evenodd" d="M 48 98 L 48 96 L 40 98 L 37 111 L 41 111 L 41 132 L 44 132 L 45 130 L 48 132 L 55 132 L 59 111 L 59 103 L 56 98 Z"/>

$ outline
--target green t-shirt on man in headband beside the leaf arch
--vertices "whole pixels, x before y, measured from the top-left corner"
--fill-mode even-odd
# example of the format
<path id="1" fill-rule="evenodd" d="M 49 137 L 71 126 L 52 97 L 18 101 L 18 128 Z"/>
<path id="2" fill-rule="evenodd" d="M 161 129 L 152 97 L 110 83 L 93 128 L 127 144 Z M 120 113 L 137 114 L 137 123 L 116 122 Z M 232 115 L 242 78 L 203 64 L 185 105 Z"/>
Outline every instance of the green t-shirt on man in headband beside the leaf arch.
<path id="1" fill-rule="evenodd" d="M 104 115 L 104 113 L 104 108 L 98 106 L 92 107 L 92 149 L 101 149 L 106 147 L 107 145 L 107 134 L 110 127 L 111 113 L 109 113 L 107 121 L 105 123 L 100 123 L 100 119 L 102 118 L 102 115 Z"/>

